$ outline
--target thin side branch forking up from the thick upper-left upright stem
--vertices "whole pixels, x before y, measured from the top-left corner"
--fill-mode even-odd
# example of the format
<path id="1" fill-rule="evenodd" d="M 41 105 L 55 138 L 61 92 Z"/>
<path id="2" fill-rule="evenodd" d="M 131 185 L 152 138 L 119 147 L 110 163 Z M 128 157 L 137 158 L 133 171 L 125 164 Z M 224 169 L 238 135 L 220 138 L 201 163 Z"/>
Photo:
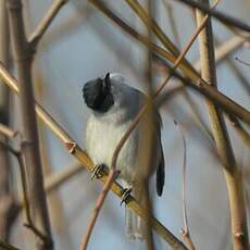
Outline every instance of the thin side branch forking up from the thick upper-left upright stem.
<path id="1" fill-rule="evenodd" d="M 53 1 L 52 5 L 47 11 L 46 15 L 42 17 L 42 20 L 36 27 L 35 32 L 32 34 L 30 38 L 28 39 L 28 42 L 32 45 L 33 48 L 37 47 L 41 37 L 46 33 L 46 30 L 49 28 L 50 24 L 52 23 L 52 21 L 54 20 L 59 11 L 62 9 L 64 3 L 66 3 L 66 1 L 67 0 Z"/>

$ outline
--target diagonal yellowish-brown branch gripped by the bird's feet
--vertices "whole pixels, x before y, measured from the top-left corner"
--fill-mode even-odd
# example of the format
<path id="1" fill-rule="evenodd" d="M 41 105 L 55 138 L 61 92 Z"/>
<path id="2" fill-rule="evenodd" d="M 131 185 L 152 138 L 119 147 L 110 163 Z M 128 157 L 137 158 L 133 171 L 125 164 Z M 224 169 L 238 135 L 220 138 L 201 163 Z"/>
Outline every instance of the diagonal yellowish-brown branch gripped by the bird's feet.
<path id="1" fill-rule="evenodd" d="M 18 93 L 18 87 L 16 79 L 5 70 L 0 62 L 0 79 L 3 80 L 15 93 Z M 34 101 L 35 102 L 35 101 Z M 91 171 L 93 167 L 91 159 L 83 151 L 79 146 L 67 135 L 67 133 L 52 118 L 52 116 L 38 103 L 35 102 L 35 108 L 38 117 L 51 129 L 51 132 L 58 136 L 58 138 L 66 146 L 66 149 L 72 153 L 80 163 L 88 170 Z M 108 173 L 104 173 L 99 180 L 105 183 Z M 111 190 L 122 199 L 123 188 L 116 182 L 113 183 Z M 146 218 L 147 214 L 145 210 L 137 203 L 137 201 L 129 197 L 129 201 L 126 204 L 132 209 L 138 216 Z M 186 249 L 185 246 L 179 241 L 167 228 L 165 228 L 158 220 L 151 216 L 152 228 L 173 248 Z"/>

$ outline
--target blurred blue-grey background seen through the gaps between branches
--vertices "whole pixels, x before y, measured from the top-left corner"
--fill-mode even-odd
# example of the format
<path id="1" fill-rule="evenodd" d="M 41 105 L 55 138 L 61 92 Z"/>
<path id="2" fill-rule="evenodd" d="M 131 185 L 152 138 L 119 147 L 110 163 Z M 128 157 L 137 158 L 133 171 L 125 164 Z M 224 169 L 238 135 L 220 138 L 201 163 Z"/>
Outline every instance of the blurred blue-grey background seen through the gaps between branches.
<path id="1" fill-rule="evenodd" d="M 132 27 L 146 34 L 143 23 L 125 1 L 104 2 Z M 30 34 L 52 1 L 24 0 L 23 3 L 26 32 Z M 167 0 L 155 0 L 154 7 L 154 18 L 182 50 L 197 26 L 191 9 L 177 1 Z M 250 24 L 248 0 L 224 0 L 217 10 Z M 217 46 L 236 36 L 216 20 L 212 21 L 212 25 L 214 42 Z M 198 41 L 193 43 L 187 58 L 193 65 L 199 63 Z M 250 67 L 235 58 L 250 62 L 249 43 L 242 42 L 217 64 L 218 89 L 249 110 Z M 70 0 L 39 43 L 33 68 L 36 99 L 71 137 L 85 148 L 84 130 L 88 111 L 82 98 L 83 85 L 108 72 L 117 72 L 123 74 L 133 87 L 145 91 L 146 62 L 147 50 L 143 46 L 122 32 L 87 1 Z M 159 86 L 165 76 L 164 67 L 159 61 L 154 61 L 153 85 Z M 193 243 L 197 249 L 202 250 L 232 249 L 228 199 L 221 163 L 209 133 L 193 116 L 193 111 L 197 111 L 210 132 L 203 98 L 187 88 L 192 102 L 190 105 L 183 88 L 177 88 L 178 86 L 180 84 L 173 78 L 162 93 L 166 95 L 160 108 L 163 120 L 162 142 L 166 180 L 163 196 L 158 198 L 154 177 L 152 178 L 154 215 L 182 239 L 179 230 L 184 226 L 182 212 L 184 145 L 182 135 L 174 125 L 174 120 L 177 120 L 187 142 L 187 215 Z M 10 115 L 14 128 L 20 127 L 18 105 L 18 99 L 15 98 L 12 101 Z M 237 163 L 243 172 L 248 222 L 250 222 L 250 151 L 228 122 L 227 125 Z M 246 126 L 246 129 L 249 130 L 249 127 Z M 78 164 L 61 141 L 40 122 L 39 136 L 46 176 Z M 16 168 L 12 168 L 15 175 L 13 183 L 18 183 L 18 176 L 14 171 Z M 50 192 L 48 201 L 55 249 L 78 249 L 101 188 L 102 185 L 98 180 L 91 182 L 90 174 L 83 168 Z M 12 227 L 10 241 L 21 249 L 33 249 L 29 232 L 24 229 L 22 224 L 21 214 Z M 158 235 L 154 236 L 157 249 L 168 249 Z M 145 249 L 145 245 L 126 239 L 124 207 L 121 207 L 120 200 L 110 193 L 97 221 L 89 249 L 114 248 Z"/>

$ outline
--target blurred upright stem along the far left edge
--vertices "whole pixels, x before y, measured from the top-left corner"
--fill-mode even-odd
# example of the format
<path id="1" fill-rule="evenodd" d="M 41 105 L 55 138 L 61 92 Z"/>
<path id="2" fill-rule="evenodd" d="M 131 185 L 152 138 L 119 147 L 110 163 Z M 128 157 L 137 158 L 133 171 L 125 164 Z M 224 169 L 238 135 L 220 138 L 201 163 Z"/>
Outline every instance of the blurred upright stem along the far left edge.
<path id="1" fill-rule="evenodd" d="M 9 64 L 9 24 L 7 1 L 0 1 L 0 61 L 7 67 Z M 0 123 L 9 124 L 10 91 L 7 86 L 0 84 Z M 0 135 L 0 141 L 7 142 L 7 137 Z M 10 188 L 10 159 L 7 150 L 0 146 L 0 239 L 8 241 L 11 227 L 17 215 L 17 204 L 13 191 Z"/>

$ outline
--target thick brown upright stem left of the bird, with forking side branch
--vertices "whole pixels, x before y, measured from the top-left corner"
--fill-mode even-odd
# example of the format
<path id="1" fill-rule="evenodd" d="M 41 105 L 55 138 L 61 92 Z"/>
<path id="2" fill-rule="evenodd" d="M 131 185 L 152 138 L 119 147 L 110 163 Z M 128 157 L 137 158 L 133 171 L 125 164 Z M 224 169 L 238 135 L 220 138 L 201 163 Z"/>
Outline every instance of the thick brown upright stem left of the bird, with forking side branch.
<path id="1" fill-rule="evenodd" d="M 32 62 L 34 51 L 25 37 L 21 0 L 8 0 L 8 9 L 11 37 L 13 39 L 13 51 L 17 67 L 17 78 L 20 82 L 23 135 L 26 141 L 24 146 L 24 157 L 27 165 L 30 204 L 33 212 L 36 212 L 37 227 L 47 237 L 46 241 L 37 241 L 39 249 L 52 249 L 32 85 Z"/>

